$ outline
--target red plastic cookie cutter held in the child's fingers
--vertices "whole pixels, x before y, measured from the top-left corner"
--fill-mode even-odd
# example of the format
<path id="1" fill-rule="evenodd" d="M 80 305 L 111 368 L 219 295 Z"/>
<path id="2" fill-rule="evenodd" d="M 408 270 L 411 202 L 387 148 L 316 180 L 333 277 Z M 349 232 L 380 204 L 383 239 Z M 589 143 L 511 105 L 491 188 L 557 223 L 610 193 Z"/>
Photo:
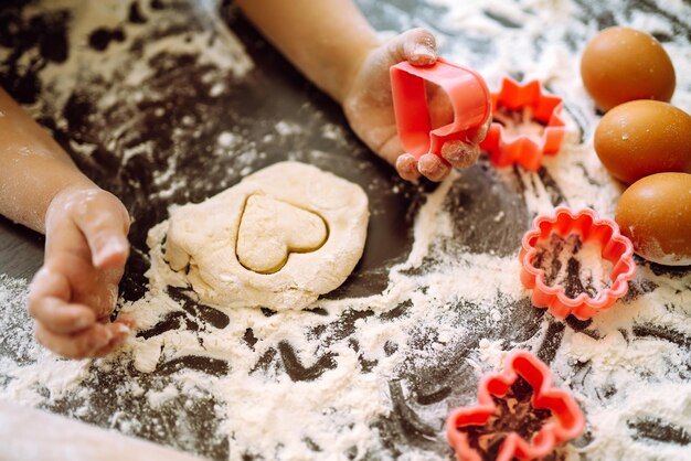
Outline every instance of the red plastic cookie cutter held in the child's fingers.
<path id="1" fill-rule="evenodd" d="M 398 63 L 390 74 L 398 138 L 403 149 L 415 159 L 425 153 L 440 156 L 447 141 L 466 142 L 465 132 L 481 126 L 491 114 L 489 88 L 480 74 L 470 68 L 438 58 L 430 66 Z M 454 108 L 454 121 L 435 130 L 429 122 L 425 81 L 438 85 Z"/>

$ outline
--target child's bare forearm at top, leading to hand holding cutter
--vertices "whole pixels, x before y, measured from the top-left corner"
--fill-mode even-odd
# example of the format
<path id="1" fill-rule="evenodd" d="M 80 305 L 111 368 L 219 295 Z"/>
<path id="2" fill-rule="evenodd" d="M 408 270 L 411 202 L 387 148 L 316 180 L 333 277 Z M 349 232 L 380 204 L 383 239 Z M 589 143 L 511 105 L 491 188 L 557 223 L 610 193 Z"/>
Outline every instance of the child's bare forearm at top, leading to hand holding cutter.
<path id="1" fill-rule="evenodd" d="M 341 103 L 379 41 L 351 0 L 238 0 L 247 18 L 310 81 Z"/>

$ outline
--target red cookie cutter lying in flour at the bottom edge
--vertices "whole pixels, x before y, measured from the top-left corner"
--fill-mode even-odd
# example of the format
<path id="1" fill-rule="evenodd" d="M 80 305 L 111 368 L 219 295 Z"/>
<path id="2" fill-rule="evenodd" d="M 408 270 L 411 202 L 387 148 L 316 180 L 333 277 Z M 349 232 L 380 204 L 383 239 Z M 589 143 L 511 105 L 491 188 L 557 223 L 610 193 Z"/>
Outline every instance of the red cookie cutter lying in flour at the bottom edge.
<path id="1" fill-rule="evenodd" d="M 509 354 L 501 374 L 487 375 L 478 387 L 478 405 L 454 410 L 446 421 L 446 436 L 456 451 L 458 461 L 481 461 L 480 453 L 470 447 L 468 436 L 459 428 L 485 426 L 496 410 L 492 395 L 503 397 L 518 377 L 525 379 L 533 388 L 533 408 L 551 411 L 550 418 L 534 435 L 525 440 L 517 432 L 510 432 L 497 455 L 498 461 L 509 461 L 514 457 L 531 460 L 548 455 L 554 447 L 574 439 L 583 432 L 585 418 L 571 394 L 552 387 L 550 368 L 527 351 Z"/>

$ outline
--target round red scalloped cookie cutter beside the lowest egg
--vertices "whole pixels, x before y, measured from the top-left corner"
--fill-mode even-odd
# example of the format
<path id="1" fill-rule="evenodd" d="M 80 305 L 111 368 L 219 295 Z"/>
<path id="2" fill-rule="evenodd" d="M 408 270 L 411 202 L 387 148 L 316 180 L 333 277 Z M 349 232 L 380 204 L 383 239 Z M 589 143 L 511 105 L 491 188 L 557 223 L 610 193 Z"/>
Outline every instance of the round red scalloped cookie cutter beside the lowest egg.
<path id="1" fill-rule="evenodd" d="M 603 258 L 614 266 L 609 275 L 612 286 L 598 292 L 595 298 L 585 292 L 576 298 L 570 298 L 564 287 L 545 285 L 544 270 L 534 267 L 533 259 L 538 254 L 535 248 L 538 240 L 548 238 L 552 233 L 561 237 L 577 234 L 584 244 L 597 243 L 602 247 Z M 574 314 L 581 320 L 586 320 L 598 312 L 606 311 L 617 299 L 626 294 L 628 280 L 636 274 L 631 240 L 619 233 L 617 223 L 599 218 L 597 213 L 588 208 L 574 212 L 560 206 L 551 215 L 535 217 L 532 228 L 523 235 L 522 246 L 521 282 L 525 288 L 533 290 L 533 304 L 538 308 L 548 308 L 557 319 Z"/>

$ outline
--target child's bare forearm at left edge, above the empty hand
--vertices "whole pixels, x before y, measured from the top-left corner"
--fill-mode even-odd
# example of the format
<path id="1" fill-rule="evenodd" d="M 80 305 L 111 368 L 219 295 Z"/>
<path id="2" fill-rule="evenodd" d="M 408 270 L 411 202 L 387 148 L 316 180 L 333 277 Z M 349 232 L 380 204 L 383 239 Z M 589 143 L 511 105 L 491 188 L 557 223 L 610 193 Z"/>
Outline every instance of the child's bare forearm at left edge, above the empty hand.
<path id="1" fill-rule="evenodd" d="M 67 153 L 0 88 L 0 214 L 45 232 L 45 213 L 62 190 L 95 187 Z"/>

